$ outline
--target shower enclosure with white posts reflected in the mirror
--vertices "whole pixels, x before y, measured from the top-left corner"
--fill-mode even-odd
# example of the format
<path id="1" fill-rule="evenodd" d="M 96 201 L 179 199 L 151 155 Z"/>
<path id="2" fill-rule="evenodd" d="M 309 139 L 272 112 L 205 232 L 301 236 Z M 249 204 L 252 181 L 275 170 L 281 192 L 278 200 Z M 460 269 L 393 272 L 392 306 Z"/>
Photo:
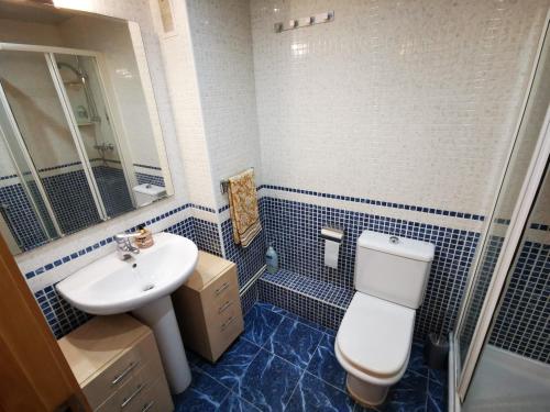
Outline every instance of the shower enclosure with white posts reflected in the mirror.
<path id="1" fill-rule="evenodd" d="M 100 67 L 95 52 L 0 43 L 1 176 L 13 180 L 0 220 L 21 252 L 135 208 Z"/>

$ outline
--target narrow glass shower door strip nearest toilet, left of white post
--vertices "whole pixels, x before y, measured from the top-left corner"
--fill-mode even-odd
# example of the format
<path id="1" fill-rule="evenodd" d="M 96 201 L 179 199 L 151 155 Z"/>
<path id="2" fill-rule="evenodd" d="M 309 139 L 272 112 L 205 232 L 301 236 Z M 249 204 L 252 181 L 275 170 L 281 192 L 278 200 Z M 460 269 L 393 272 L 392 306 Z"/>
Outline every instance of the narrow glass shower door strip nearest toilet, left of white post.
<path id="1" fill-rule="evenodd" d="M 490 226 L 484 238 L 482 253 L 472 274 L 472 286 L 457 327 L 455 350 L 459 355 L 457 369 L 460 380 L 459 391 L 462 398 L 468 391 L 470 379 L 475 369 L 481 345 L 486 337 L 487 316 L 492 315 L 491 307 L 495 304 L 497 298 L 495 293 L 499 290 L 497 281 L 502 280 L 497 279 L 496 274 L 498 270 L 506 269 L 504 265 L 501 265 L 501 261 L 509 259 L 509 254 L 505 256 L 504 250 L 514 247 L 510 238 L 517 236 L 515 234 L 519 222 L 517 216 L 521 208 L 527 204 L 524 196 L 528 190 L 527 183 L 532 181 L 531 174 L 534 174 L 535 164 L 531 162 L 542 162 L 540 153 L 546 147 L 543 145 L 546 144 L 544 134 L 548 127 L 550 103 L 548 85 L 550 85 L 550 45 L 548 33 L 544 33 L 521 124 L 516 135 L 495 208 L 490 216 Z"/>

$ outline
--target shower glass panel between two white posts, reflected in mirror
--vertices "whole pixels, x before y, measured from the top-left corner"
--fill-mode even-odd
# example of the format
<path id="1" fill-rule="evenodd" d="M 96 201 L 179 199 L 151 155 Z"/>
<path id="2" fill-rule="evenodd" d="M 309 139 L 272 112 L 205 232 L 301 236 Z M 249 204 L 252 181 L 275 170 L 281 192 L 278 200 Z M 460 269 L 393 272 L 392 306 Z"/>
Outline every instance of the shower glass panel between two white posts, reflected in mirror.
<path id="1" fill-rule="evenodd" d="M 0 77 L 62 232 L 101 222 L 45 55 L 2 51 Z"/>

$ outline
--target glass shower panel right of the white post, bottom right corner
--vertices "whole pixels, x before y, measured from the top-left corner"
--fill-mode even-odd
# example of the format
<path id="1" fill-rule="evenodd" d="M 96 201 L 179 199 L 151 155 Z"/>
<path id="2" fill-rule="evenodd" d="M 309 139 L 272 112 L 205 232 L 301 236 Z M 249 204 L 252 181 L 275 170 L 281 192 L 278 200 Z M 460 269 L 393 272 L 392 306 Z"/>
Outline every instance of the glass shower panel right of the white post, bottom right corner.
<path id="1" fill-rule="evenodd" d="M 462 410 L 550 405 L 550 176 L 547 169 Z"/>

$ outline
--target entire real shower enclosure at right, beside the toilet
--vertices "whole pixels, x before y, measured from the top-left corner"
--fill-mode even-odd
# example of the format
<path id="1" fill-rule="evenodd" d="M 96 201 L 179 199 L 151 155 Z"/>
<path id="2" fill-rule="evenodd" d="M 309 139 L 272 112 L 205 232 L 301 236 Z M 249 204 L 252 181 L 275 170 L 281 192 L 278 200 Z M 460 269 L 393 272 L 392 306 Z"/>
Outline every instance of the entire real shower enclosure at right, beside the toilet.
<path id="1" fill-rule="evenodd" d="M 550 38 L 541 36 L 525 110 L 455 332 L 450 410 L 550 405 Z"/>

